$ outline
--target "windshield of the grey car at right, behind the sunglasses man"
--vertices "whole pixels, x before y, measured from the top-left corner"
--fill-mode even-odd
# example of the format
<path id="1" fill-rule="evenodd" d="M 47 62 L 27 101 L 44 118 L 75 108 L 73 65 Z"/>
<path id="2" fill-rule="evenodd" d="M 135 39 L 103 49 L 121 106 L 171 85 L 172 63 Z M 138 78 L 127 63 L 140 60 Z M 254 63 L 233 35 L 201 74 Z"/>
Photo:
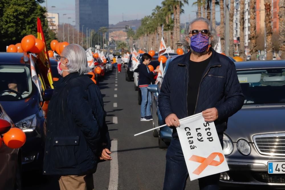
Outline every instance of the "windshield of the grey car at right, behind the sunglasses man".
<path id="1" fill-rule="evenodd" d="M 245 95 L 244 104 L 285 103 L 285 69 L 237 71 Z"/>

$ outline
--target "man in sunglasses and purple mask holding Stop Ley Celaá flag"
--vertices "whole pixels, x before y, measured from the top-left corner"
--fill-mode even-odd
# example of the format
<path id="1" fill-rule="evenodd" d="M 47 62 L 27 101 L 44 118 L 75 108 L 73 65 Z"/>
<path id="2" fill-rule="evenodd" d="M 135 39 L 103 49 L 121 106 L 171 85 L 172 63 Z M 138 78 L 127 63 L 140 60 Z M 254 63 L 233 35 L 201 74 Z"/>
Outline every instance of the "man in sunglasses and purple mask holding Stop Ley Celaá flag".
<path id="1" fill-rule="evenodd" d="M 164 76 L 158 107 L 167 126 L 173 128 L 166 153 L 164 190 L 185 189 L 188 170 L 176 127 L 179 119 L 202 112 L 206 122 L 214 122 L 223 147 L 227 120 L 243 106 L 244 96 L 235 64 L 211 48 L 215 30 L 210 21 L 197 18 L 186 34 L 190 51 L 175 58 Z M 219 189 L 220 174 L 199 179 L 200 189 Z"/>

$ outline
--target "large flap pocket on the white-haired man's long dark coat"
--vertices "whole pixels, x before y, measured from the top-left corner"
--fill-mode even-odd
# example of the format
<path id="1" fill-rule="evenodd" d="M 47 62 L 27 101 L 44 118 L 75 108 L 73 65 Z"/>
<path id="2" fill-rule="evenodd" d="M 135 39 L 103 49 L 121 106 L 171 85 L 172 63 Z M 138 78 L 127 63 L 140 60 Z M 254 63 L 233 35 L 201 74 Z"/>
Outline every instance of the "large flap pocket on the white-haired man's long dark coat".
<path id="1" fill-rule="evenodd" d="M 79 136 L 54 137 L 54 166 L 58 169 L 76 168 L 78 163 L 74 155 L 74 148 L 79 145 Z"/>

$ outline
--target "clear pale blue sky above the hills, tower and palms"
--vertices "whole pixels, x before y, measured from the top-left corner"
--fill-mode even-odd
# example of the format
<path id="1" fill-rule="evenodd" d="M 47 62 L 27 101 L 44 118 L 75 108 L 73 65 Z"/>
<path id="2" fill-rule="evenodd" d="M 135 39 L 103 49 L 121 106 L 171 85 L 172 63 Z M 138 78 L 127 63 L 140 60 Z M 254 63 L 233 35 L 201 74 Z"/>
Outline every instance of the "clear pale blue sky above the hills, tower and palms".
<path id="1" fill-rule="evenodd" d="M 48 12 L 59 13 L 60 23 L 63 21 L 62 14 L 66 14 L 64 17 L 64 22 L 67 22 L 67 18 L 71 17 L 70 24 L 72 21 L 75 21 L 75 0 L 46 0 L 48 4 Z M 190 0 L 189 5 L 184 5 L 184 14 L 181 14 L 181 23 L 189 22 L 190 19 L 194 19 L 196 17 L 196 13 L 192 11 L 196 11 L 197 7 L 192 6 L 192 3 L 195 0 Z M 135 3 L 134 3 L 135 2 Z M 134 20 L 141 19 L 146 15 L 150 15 L 152 9 L 156 7 L 156 5 L 161 5 L 162 1 L 158 0 L 144 0 L 141 1 L 142 4 L 138 4 L 137 1 L 134 0 L 109 0 L 109 24 L 116 24 L 120 21 L 124 20 Z M 46 2 L 41 4 L 42 6 L 46 6 Z M 51 6 L 55 6 L 55 8 L 51 8 Z M 216 11 L 218 11 L 219 7 L 216 7 Z M 219 12 L 216 12 L 216 20 L 219 21 Z"/>

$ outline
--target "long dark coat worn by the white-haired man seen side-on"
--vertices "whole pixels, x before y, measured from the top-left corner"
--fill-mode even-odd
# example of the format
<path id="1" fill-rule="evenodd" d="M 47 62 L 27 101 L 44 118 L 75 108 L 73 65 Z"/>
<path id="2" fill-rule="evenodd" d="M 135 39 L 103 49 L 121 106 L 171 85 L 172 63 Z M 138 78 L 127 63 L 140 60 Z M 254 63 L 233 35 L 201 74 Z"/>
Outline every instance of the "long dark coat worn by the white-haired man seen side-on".
<path id="1" fill-rule="evenodd" d="M 68 74 L 53 86 L 43 172 L 95 172 L 102 148 L 111 146 L 101 92 L 88 76 L 78 73 Z"/>

